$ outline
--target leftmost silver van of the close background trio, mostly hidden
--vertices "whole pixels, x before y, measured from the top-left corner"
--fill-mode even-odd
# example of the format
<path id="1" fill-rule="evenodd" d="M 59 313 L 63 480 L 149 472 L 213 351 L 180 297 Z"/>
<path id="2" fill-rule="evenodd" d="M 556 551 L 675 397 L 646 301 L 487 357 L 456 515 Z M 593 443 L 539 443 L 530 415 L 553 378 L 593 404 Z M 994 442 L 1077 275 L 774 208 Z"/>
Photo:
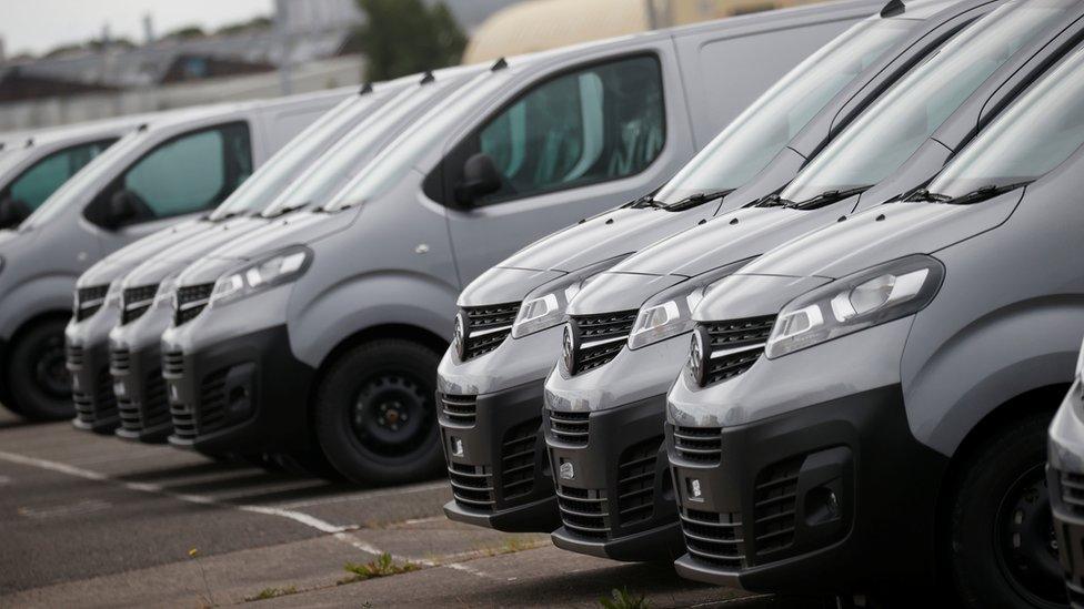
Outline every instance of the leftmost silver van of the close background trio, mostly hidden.
<path id="1" fill-rule="evenodd" d="M 140 264 L 167 255 L 174 247 L 198 247 L 205 240 L 217 240 L 225 233 L 240 237 L 264 221 L 252 217 L 290 190 L 299 175 L 312 166 L 320 155 L 339 142 L 340 138 L 368 120 L 403 89 L 415 84 L 416 78 L 398 82 L 367 85 L 358 94 L 349 95 L 307 126 L 268 160 L 252 177 L 238 187 L 225 201 L 207 215 L 174 224 L 102 258 L 76 283 L 76 311 L 64 329 L 68 369 L 78 379 L 73 394 L 77 428 L 112 433 L 120 425 L 116 395 L 109 374 L 109 332 L 121 321 L 123 278 Z M 168 286 L 167 286 L 168 287 Z M 101 303 L 80 298 L 80 294 L 107 294 Z M 145 291 L 144 291 L 145 292 Z M 133 292 L 130 296 L 138 296 Z M 155 298 L 169 302 L 164 291 Z M 88 305 L 90 311 L 83 311 Z"/>

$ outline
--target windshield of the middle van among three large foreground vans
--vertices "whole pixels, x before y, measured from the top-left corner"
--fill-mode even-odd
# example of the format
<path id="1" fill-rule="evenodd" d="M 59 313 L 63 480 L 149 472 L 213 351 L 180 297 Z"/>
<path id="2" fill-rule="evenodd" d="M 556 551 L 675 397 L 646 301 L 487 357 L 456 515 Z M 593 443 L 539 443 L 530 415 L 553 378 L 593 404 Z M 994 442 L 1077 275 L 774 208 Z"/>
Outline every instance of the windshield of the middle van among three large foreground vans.
<path id="1" fill-rule="evenodd" d="M 1038 32 L 1062 20 L 1070 7 L 1063 1 L 1017 0 L 976 20 L 863 112 L 780 197 L 801 204 L 887 177 L 986 78 Z"/>

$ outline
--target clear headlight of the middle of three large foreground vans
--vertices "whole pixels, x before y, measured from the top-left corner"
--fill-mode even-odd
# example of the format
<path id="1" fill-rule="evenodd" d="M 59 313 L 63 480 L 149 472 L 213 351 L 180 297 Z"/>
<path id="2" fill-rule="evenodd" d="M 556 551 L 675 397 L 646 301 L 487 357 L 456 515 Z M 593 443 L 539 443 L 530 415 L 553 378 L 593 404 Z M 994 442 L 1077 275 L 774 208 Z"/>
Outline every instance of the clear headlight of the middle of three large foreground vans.
<path id="1" fill-rule="evenodd" d="M 640 307 L 636 321 L 629 334 L 629 348 L 638 349 L 666 338 L 680 336 L 693 329 L 693 309 L 704 300 L 711 285 L 732 275 L 753 258 L 720 266 L 695 277 L 663 290 Z"/>

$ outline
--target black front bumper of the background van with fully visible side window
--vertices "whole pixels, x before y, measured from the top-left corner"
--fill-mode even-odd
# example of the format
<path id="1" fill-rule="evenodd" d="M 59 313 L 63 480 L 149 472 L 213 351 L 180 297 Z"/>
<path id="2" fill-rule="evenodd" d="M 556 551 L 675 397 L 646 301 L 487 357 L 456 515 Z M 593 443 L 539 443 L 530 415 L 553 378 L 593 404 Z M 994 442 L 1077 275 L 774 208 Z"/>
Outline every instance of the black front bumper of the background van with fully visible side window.
<path id="1" fill-rule="evenodd" d="M 291 353 L 285 325 L 162 353 L 169 443 L 207 454 L 310 449 L 313 369 Z"/>

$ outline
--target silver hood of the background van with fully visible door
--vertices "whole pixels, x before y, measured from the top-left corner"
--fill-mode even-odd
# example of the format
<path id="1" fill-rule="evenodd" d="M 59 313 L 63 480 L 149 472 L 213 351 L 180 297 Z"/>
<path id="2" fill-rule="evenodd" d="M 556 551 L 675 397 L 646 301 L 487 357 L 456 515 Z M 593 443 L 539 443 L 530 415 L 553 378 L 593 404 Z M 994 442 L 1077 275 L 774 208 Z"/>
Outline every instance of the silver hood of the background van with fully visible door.
<path id="1" fill-rule="evenodd" d="M 298 212 L 244 235 L 241 243 L 228 243 L 181 272 L 178 285 L 214 283 L 241 263 L 257 261 L 290 245 L 314 242 L 350 226 L 360 209 L 338 213 Z M 319 255 L 319 253 L 317 254 Z"/>

